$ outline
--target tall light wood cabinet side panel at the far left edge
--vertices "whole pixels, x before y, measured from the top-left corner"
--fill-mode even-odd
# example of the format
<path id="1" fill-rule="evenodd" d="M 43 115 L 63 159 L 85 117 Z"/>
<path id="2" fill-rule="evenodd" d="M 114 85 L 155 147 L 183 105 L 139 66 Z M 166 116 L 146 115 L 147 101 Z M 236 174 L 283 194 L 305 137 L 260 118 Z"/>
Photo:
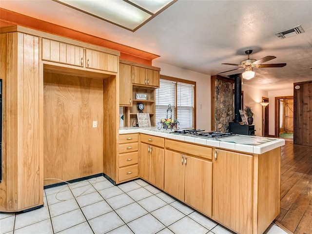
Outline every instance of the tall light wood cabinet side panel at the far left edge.
<path id="1" fill-rule="evenodd" d="M 43 80 L 39 37 L 15 30 L 0 34 L 2 180 L 0 211 L 43 205 Z"/>

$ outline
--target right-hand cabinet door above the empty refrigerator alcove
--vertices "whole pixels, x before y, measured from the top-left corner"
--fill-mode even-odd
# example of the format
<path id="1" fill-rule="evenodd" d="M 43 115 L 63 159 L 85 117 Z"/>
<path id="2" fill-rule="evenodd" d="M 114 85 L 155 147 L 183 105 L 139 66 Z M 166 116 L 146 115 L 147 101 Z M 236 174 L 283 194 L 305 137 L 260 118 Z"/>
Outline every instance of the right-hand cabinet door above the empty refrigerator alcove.
<path id="1" fill-rule="evenodd" d="M 116 55 L 86 49 L 86 68 L 117 73 L 117 67 L 118 57 Z"/>

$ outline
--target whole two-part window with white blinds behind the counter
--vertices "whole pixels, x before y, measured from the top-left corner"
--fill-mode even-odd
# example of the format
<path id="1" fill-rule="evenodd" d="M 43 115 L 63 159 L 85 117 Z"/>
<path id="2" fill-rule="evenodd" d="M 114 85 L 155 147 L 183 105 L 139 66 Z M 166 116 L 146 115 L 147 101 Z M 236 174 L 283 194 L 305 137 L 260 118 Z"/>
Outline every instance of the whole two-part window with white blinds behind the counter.
<path id="1" fill-rule="evenodd" d="M 171 104 L 172 113 L 168 112 L 168 118 L 176 118 L 180 128 L 194 128 L 194 89 L 193 84 L 160 79 L 160 87 L 156 89 L 156 124 L 161 118 L 167 118 Z"/>

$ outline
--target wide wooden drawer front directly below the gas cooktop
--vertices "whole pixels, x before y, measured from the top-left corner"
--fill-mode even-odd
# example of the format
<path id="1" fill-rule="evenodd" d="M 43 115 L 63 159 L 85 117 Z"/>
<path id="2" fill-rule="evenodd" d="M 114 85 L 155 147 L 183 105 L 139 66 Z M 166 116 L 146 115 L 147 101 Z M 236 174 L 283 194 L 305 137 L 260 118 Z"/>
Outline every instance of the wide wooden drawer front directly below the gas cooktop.
<path id="1" fill-rule="evenodd" d="M 213 158 L 212 148 L 205 146 L 193 145 L 181 141 L 166 139 L 165 147 L 166 149 L 178 151 L 181 152 L 182 154 L 194 155 L 202 158 L 207 158 L 210 160 Z"/>

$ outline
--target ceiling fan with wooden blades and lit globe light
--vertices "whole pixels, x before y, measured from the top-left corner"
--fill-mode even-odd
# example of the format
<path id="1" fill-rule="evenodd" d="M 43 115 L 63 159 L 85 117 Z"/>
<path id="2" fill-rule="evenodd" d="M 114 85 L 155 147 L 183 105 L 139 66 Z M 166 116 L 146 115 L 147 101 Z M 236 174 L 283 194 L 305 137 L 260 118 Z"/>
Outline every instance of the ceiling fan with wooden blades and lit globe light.
<path id="1" fill-rule="evenodd" d="M 266 56 L 263 57 L 262 59 L 249 59 L 249 55 L 253 53 L 252 50 L 246 50 L 245 54 L 247 55 L 247 59 L 243 60 L 240 62 L 240 64 L 235 64 L 235 63 L 222 63 L 222 64 L 226 64 L 226 65 L 233 65 L 233 66 L 238 66 L 239 68 L 233 69 L 233 70 L 229 70 L 229 71 L 225 71 L 225 72 L 220 72 L 221 73 L 226 73 L 226 72 L 231 72 L 231 71 L 235 71 L 235 70 L 240 70 L 240 69 L 245 69 L 245 71 L 243 72 L 242 76 L 245 79 L 251 79 L 254 78 L 254 71 L 253 68 L 263 68 L 263 67 L 284 67 L 286 66 L 286 63 L 275 63 L 275 64 L 261 64 L 263 62 L 267 62 L 270 61 L 272 59 L 275 59 L 275 56 Z"/>

